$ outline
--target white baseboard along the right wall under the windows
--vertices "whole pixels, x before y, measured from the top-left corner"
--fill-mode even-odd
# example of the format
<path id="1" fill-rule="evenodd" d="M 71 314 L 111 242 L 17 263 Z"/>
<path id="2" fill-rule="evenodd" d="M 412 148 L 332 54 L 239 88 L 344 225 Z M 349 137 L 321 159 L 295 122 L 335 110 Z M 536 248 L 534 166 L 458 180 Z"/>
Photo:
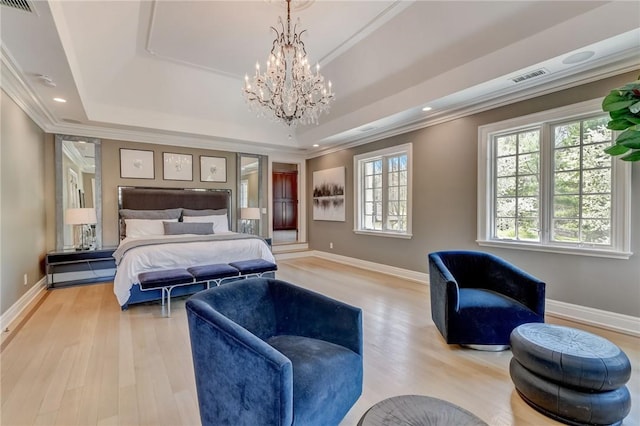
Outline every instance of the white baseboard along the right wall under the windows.
<path id="1" fill-rule="evenodd" d="M 300 253 L 295 257 L 303 256 L 316 256 L 323 259 L 333 260 L 334 262 L 344 263 L 346 265 L 351 265 L 370 271 L 376 271 L 383 274 L 389 274 L 416 281 L 420 284 L 429 285 L 429 274 L 422 272 L 396 268 L 394 266 L 383 265 L 380 263 L 369 262 L 366 260 L 355 259 L 352 257 L 341 256 L 317 250 Z M 588 306 L 574 305 L 571 303 L 560 302 L 551 299 L 546 300 L 545 312 L 550 316 L 563 318 L 570 321 L 615 331 L 618 333 L 640 337 L 640 318 L 638 317 L 618 314 L 616 312 L 603 311 L 600 309 L 590 308 Z"/>

